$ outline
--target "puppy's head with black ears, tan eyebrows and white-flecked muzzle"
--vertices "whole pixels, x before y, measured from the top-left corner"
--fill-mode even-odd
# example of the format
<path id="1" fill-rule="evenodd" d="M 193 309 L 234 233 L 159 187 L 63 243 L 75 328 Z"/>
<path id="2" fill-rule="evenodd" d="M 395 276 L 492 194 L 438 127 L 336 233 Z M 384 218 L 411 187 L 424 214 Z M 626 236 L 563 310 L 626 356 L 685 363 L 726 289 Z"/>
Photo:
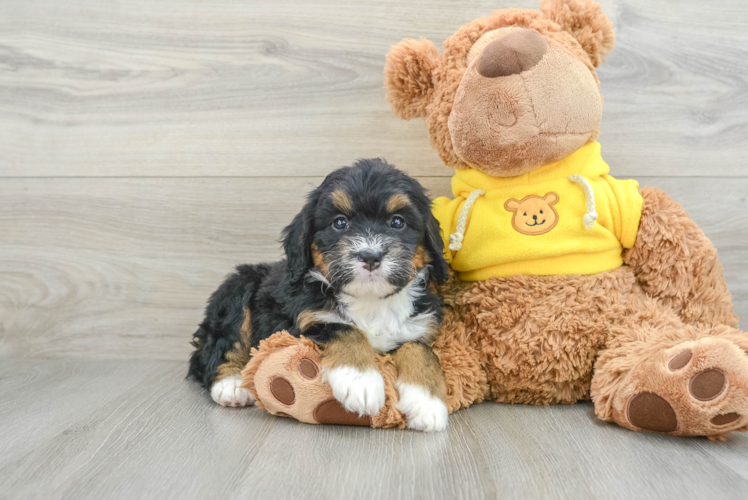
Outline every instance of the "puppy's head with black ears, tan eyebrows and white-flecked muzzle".
<path id="1" fill-rule="evenodd" d="M 330 174 L 286 229 L 286 243 L 292 274 L 324 278 L 357 297 L 396 293 L 424 268 L 430 279 L 446 279 L 430 201 L 383 160 Z"/>

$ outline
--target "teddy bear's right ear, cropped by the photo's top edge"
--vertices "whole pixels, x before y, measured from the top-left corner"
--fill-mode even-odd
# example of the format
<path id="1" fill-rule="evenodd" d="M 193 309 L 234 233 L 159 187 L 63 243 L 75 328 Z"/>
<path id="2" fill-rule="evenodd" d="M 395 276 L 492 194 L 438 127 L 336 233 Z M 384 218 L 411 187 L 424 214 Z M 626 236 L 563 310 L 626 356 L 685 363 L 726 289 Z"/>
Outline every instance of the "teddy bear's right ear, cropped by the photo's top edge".
<path id="1" fill-rule="evenodd" d="M 613 23 L 591 0 L 543 0 L 540 10 L 582 46 L 596 68 L 615 45 Z"/>

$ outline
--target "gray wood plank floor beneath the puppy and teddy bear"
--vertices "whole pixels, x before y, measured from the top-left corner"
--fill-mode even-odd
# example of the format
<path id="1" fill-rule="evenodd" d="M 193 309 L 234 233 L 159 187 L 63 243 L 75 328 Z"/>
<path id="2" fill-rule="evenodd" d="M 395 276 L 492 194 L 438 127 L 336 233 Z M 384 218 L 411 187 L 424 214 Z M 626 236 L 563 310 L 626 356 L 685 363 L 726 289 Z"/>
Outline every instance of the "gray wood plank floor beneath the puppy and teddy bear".
<path id="1" fill-rule="evenodd" d="M 588 403 L 481 404 L 440 434 L 222 408 L 174 361 L 7 360 L 3 498 L 746 498 L 748 436 L 639 434 Z"/>

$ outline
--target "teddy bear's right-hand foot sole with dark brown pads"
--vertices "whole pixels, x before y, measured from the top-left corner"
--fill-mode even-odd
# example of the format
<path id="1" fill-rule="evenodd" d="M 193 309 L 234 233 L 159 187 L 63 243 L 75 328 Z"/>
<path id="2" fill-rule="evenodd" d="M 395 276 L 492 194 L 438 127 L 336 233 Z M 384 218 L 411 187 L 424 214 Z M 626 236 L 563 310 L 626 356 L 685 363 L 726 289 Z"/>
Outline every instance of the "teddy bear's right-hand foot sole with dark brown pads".
<path id="1" fill-rule="evenodd" d="M 633 394 L 626 418 L 635 428 L 677 435 L 719 435 L 748 426 L 748 355 L 723 339 L 668 349 L 664 363 L 645 363 L 650 390 Z M 649 372 L 649 373 L 647 373 Z"/>

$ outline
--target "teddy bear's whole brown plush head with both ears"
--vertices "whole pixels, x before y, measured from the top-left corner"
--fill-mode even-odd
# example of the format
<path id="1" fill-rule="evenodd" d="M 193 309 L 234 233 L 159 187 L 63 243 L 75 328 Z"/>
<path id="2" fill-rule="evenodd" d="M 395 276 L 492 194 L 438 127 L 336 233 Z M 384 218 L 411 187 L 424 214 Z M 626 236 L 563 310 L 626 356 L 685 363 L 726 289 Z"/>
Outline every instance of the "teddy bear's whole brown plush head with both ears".
<path id="1" fill-rule="evenodd" d="M 615 34 L 590 0 L 543 0 L 466 24 L 444 42 L 404 40 L 387 55 L 395 114 L 424 117 L 453 168 L 497 177 L 530 172 L 597 140 L 602 96 L 595 68 Z"/>

